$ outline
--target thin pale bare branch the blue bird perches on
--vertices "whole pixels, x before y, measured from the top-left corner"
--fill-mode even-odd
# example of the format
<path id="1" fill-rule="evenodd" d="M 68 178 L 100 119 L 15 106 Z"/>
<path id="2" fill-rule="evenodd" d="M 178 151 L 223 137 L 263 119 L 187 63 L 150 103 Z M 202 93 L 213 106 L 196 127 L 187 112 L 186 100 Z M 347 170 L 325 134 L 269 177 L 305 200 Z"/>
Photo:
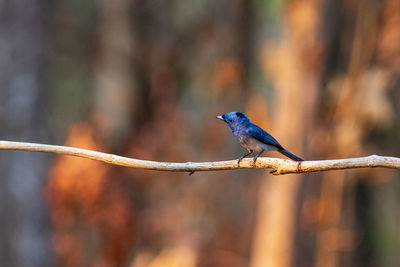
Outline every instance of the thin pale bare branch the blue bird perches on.
<path id="1" fill-rule="evenodd" d="M 102 161 L 109 164 L 148 169 L 158 171 L 190 172 L 195 171 L 217 171 L 233 169 L 273 169 L 274 175 L 287 173 L 305 173 L 329 170 L 343 170 L 354 168 L 374 168 L 384 167 L 400 169 L 400 158 L 383 157 L 371 155 L 361 158 L 336 159 L 336 160 L 314 160 L 296 162 L 289 159 L 280 158 L 258 158 L 256 164 L 252 158 L 245 158 L 237 164 L 237 160 L 214 161 L 214 162 L 157 162 L 150 160 L 140 160 L 127 157 L 121 157 L 113 154 L 92 151 L 67 146 L 55 146 L 36 143 L 0 141 L 0 150 L 24 150 L 36 152 L 49 152 L 62 155 L 69 155 L 87 159 Z"/>

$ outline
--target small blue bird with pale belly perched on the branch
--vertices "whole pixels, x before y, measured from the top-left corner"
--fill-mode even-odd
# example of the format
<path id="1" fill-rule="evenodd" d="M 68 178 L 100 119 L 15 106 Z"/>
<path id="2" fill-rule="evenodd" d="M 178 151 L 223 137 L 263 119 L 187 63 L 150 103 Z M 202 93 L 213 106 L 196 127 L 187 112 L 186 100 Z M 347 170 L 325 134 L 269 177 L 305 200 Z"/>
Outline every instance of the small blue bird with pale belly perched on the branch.
<path id="1" fill-rule="evenodd" d="M 243 158 L 252 154 L 253 152 L 257 153 L 253 158 L 253 162 L 256 163 L 257 158 L 264 151 L 278 151 L 294 161 L 303 161 L 302 158 L 283 148 L 269 133 L 261 129 L 259 126 L 251 123 L 246 115 L 244 115 L 242 112 L 233 111 L 217 116 L 217 118 L 228 124 L 236 141 L 238 141 L 244 148 L 247 149 L 248 153 L 238 158 L 238 165 Z"/>

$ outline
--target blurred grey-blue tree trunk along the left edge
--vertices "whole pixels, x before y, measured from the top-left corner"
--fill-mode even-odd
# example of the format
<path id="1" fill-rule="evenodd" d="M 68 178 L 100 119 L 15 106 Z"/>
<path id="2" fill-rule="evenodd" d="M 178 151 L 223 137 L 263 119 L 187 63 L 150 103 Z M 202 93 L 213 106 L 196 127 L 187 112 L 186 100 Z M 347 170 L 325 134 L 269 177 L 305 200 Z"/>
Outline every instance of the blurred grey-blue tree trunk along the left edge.
<path id="1" fill-rule="evenodd" d="M 0 139 L 45 141 L 39 80 L 44 2 L 0 6 Z M 42 198 L 47 156 L 0 154 L 0 265 L 50 266 L 47 213 Z"/>

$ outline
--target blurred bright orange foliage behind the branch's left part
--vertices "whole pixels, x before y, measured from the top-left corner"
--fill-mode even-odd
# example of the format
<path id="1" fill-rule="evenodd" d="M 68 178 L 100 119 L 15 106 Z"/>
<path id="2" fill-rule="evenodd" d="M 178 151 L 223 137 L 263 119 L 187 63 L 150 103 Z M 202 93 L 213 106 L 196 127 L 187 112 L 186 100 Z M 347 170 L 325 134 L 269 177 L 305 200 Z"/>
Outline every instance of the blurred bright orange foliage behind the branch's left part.
<path id="1" fill-rule="evenodd" d="M 71 128 L 66 145 L 102 150 L 93 128 L 84 123 Z M 134 216 L 121 181 L 109 176 L 103 163 L 68 156 L 60 157 L 51 169 L 46 193 L 54 247 L 62 266 L 93 262 L 119 266 L 125 260 Z M 88 234 L 88 229 L 93 233 Z"/>

